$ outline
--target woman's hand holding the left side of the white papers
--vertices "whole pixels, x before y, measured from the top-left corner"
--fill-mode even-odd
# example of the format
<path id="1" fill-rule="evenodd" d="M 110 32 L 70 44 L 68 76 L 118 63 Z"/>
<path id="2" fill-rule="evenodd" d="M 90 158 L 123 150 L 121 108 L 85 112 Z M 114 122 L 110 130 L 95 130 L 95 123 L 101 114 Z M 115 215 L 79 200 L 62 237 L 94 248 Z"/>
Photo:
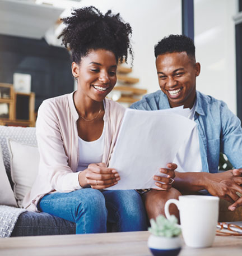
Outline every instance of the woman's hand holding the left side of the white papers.
<path id="1" fill-rule="evenodd" d="M 91 186 L 92 189 L 106 189 L 118 183 L 118 172 L 113 168 L 107 168 L 105 163 L 91 163 L 86 170 L 78 175 L 82 188 Z"/>

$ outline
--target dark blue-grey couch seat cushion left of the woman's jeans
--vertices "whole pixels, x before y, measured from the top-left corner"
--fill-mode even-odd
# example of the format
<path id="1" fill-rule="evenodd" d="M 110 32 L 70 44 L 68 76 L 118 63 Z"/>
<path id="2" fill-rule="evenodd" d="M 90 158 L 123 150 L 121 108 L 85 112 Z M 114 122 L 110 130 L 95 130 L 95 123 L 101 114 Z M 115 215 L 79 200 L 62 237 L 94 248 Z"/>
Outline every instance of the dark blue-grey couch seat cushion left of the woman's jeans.
<path id="1" fill-rule="evenodd" d="M 11 236 L 76 234 L 76 223 L 48 213 L 24 212 L 18 217 Z"/>

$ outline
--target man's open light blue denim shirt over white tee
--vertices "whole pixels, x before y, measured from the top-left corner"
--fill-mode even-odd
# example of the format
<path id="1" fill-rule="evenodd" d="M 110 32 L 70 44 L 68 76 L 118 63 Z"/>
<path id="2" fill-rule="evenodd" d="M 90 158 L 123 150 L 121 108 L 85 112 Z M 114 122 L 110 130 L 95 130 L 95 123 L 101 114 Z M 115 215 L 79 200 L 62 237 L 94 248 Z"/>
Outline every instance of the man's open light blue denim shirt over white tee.
<path id="1" fill-rule="evenodd" d="M 131 108 L 158 110 L 170 108 L 167 96 L 158 90 L 133 103 Z M 197 123 L 204 172 L 218 171 L 219 154 L 226 154 L 235 168 L 242 168 L 242 129 L 240 120 L 222 100 L 197 91 L 194 121 Z"/>

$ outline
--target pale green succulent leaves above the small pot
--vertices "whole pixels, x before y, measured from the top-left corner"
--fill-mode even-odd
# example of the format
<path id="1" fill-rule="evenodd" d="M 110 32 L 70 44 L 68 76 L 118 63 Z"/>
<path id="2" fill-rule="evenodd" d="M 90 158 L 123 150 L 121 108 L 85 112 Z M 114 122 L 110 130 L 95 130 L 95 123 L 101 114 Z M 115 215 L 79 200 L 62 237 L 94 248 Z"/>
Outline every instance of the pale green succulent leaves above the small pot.
<path id="1" fill-rule="evenodd" d="M 170 220 L 167 220 L 162 215 L 156 217 L 156 221 L 150 220 L 151 227 L 148 228 L 148 231 L 155 236 L 165 236 L 165 237 L 174 237 L 179 236 L 181 229 L 178 226 L 178 219 L 172 215 Z"/>

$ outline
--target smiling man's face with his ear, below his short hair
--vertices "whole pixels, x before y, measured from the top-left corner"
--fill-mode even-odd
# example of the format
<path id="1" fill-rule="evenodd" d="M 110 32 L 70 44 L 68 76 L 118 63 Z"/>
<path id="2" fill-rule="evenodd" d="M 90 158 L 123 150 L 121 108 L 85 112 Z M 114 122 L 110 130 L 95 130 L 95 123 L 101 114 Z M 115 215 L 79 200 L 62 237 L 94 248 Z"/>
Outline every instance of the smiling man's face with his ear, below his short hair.
<path id="1" fill-rule="evenodd" d="M 158 55 L 156 68 L 160 88 L 167 95 L 170 107 L 184 105 L 185 108 L 192 108 L 200 64 L 195 63 L 186 52 L 174 52 Z"/>

